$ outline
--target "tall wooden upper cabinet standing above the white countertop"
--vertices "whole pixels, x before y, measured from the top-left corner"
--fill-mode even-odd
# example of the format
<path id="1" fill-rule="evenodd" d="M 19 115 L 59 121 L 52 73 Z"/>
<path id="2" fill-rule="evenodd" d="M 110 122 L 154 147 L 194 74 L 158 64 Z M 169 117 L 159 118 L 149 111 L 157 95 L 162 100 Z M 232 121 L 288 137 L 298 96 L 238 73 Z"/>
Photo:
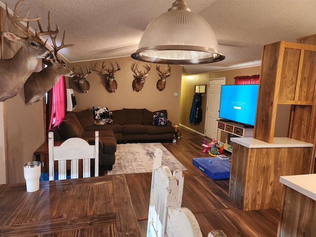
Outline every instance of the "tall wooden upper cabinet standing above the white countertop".
<path id="1" fill-rule="evenodd" d="M 314 142 L 316 46 L 279 41 L 264 46 L 254 138 L 271 143 L 278 104 L 292 106 L 288 137 Z"/>

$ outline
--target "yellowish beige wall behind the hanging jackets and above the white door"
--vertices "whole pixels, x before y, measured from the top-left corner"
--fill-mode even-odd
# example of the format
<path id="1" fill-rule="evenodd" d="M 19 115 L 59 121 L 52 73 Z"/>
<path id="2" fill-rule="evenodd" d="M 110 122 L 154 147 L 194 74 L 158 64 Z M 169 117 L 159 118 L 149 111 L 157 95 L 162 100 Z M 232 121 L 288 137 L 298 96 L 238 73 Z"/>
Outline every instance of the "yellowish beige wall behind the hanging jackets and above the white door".
<path id="1" fill-rule="evenodd" d="M 203 113 L 202 121 L 199 124 L 194 125 L 193 123 L 190 124 L 190 120 L 189 120 L 190 110 L 192 107 L 192 101 L 193 101 L 193 95 L 194 95 L 194 88 L 196 84 L 208 85 L 209 79 L 222 78 L 222 77 L 226 77 L 226 84 L 234 84 L 235 83 L 234 78 L 237 76 L 252 76 L 252 75 L 258 75 L 258 74 L 260 74 L 260 66 L 182 77 L 181 100 L 180 100 L 180 107 L 181 107 L 180 123 L 186 127 L 196 130 L 199 133 L 204 134 L 207 91 L 205 93 L 205 96 L 203 96 L 203 99 L 202 99 L 202 113 Z"/>

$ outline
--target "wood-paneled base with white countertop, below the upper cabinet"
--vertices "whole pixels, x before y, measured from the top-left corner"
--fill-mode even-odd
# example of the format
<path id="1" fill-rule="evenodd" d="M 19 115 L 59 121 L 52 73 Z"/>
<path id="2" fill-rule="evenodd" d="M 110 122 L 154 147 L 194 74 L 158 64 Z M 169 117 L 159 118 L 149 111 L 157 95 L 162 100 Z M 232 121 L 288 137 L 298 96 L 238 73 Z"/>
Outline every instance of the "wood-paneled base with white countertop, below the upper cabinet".
<path id="1" fill-rule="evenodd" d="M 231 138 L 233 158 L 229 196 L 242 210 L 280 208 L 282 175 L 308 174 L 312 143 L 287 137 L 266 143 L 254 138 Z"/>

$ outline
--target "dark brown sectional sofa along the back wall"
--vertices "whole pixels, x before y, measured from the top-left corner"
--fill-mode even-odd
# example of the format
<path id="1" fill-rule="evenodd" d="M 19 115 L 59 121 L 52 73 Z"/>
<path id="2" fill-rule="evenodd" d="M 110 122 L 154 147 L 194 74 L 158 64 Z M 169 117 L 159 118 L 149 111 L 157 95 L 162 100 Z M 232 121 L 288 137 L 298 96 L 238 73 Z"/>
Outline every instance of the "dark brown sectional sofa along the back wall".
<path id="1" fill-rule="evenodd" d="M 167 117 L 166 110 L 156 112 L 161 112 Z M 156 112 L 147 109 L 115 110 L 112 111 L 113 123 L 104 125 L 95 125 L 91 109 L 68 112 L 62 122 L 50 131 L 54 132 L 55 140 L 82 137 L 89 142 L 94 141 L 94 131 L 99 131 L 99 163 L 112 170 L 117 143 L 162 140 L 172 142 L 174 127 L 171 121 L 168 121 L 166 126 L 152 125 Z"/>

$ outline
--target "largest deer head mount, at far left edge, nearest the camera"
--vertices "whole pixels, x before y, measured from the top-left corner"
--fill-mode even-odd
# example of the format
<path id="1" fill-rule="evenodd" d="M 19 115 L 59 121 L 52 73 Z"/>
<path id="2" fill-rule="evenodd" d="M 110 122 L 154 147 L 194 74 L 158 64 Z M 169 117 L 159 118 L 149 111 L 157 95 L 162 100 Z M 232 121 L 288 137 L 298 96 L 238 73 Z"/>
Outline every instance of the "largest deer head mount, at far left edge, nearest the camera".
<path id="1" fill-rule="evenodd" d="M 23 0 L 19 0 L 14 7 L 13 16 L 11 17 L 6 5 L 6 14 L 11 19 L 12 24 L 23 32 L 27 37 L 19 37 L 10 32 L 1 32 L 2 36 L 12 42 L 19 42 L 22 47 L 10 59 L 0 59 L 0 101 L 5 101 L 13 96 L 16 96 L 20 89 L 23 87 L 25 81 L 34 72 L 38 59 L 52 58 L 53 54 L 45 47 L 46 42 L 42 42 L 40 36 L 56 34 L 56 31 L 48 27 L 48 31 L 44 32 L 40 28 L 40 32 L 35 36 L 29 31 L 29 21 L 39 20 L 40 18 L 29 18 L 29 11 L 26 12 L 24 17 L 18 17 L 18 7 Z M 26 28 L 21 27 L 18 22 L 28 22 Z"/>

